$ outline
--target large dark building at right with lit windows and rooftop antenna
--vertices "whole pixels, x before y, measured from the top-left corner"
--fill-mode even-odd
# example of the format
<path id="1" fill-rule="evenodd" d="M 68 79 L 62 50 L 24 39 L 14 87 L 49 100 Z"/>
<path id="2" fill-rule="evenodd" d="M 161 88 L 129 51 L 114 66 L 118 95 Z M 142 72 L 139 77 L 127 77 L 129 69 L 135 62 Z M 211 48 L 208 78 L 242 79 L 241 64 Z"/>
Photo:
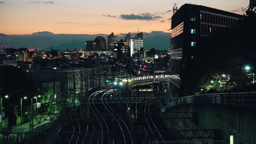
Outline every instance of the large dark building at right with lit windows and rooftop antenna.
<path id="1" fill-rule="evenodd" d="M 195 4 L 184 4 L 172 16 L 170 72 L 179 75 L 203 39 L 213 31 L 235 27 L 242 15 Z M 207 47 L 206 47 L 207 49 Z"/>

